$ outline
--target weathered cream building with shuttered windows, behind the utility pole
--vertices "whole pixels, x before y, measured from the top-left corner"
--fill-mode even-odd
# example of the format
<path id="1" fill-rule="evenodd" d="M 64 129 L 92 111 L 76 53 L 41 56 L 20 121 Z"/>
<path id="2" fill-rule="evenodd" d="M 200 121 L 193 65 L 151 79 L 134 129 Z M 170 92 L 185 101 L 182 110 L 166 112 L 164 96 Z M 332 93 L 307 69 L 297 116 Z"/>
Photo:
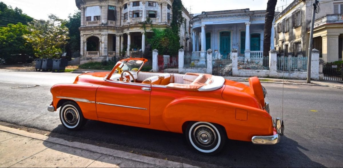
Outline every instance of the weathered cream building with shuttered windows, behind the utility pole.
<path id="1" fill-rule="evenodd" d="M 275 48 L 279 53 L 308 56 L 313 0 L 294 0 L 275 17 Z M 321 0 L 316 13 L 313 48 L 325 62 L 342 60 L 343 0 Z"/>

